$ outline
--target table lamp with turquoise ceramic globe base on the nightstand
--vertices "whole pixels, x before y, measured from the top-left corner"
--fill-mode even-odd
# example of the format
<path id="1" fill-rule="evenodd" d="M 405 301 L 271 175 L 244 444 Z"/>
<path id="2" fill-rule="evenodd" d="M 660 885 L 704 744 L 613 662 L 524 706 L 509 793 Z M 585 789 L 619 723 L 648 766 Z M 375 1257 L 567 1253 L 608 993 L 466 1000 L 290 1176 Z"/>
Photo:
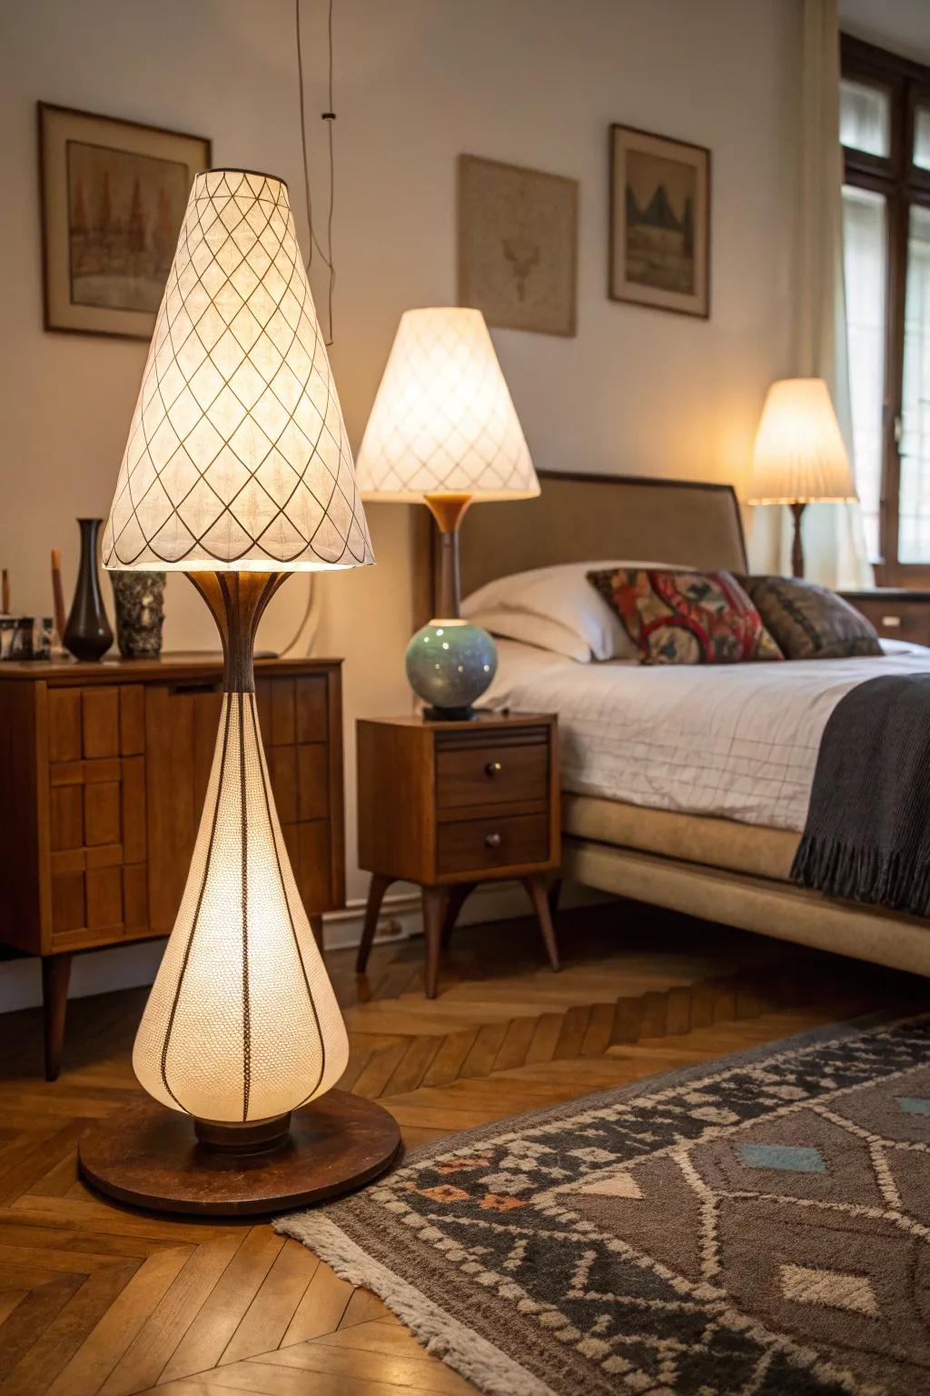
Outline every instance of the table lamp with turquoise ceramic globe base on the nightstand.
<path id="1" fill-rule="evenodd" d="M 439 530 L 439 616 L 410 641 L 407 677 L 439 719 L 473 716 L 494 678 L 491 637 L 459 617 L 459 529 L 470 504 L 526 500 L 540 482 L 480 310 L 407 310 L 356 469 L 368 500 L 425 503 Z"/>

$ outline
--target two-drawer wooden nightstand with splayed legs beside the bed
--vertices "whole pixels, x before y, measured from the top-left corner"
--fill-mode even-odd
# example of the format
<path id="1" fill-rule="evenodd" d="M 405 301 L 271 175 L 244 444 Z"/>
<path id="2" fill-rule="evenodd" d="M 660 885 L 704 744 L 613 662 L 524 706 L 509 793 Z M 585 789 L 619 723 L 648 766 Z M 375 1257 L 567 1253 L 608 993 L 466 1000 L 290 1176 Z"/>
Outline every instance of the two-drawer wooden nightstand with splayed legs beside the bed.
<path id="1" fill-rule="evenodd" d="M 478 713 L 470 722 L 360 720 L 358 866 L 372 874 L 357 973 L 364 973 L 392 882 L 418 882 L 427 937 L 427 997 L 468 893 L 519 878 L 552 969 L 559 953 L 547 874 L 561 860 L 556 719 Z"/>

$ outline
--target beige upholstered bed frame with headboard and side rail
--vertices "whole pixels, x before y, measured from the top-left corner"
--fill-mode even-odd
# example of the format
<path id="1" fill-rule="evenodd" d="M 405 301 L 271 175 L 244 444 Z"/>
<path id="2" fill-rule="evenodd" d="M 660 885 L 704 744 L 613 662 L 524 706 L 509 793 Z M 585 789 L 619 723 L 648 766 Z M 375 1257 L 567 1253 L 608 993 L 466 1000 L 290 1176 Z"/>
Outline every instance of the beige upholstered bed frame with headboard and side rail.
<path id="1" fill-rule="evenodd" d="M 745 571 L 729 484 L 540 472 L 542 493 L 471 508 L 462 530 L 463 595 L 552 563 L 632 557 Z M 432 533 L 417 511 L 416 596 L 431 610 Z M 425 614 L 424 614 L 425 618 Z M 798 835 L 733 819 L 566 794 L 566 878 L 779 940 L 930 974 L 930 923 L 796 888 Z"/>

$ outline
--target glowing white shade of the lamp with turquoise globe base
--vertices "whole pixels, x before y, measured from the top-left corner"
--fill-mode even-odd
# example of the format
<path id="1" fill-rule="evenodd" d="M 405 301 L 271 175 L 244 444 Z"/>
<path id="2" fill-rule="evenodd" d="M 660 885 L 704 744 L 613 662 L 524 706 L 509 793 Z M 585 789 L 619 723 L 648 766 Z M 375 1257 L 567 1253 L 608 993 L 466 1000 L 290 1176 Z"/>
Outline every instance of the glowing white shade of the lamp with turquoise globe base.
<path id="1" fill-rule="evenodd" d="M 540 482 L 480 310 L 407 310 L 356 466 L 367 498 L 530 498 Z"/>

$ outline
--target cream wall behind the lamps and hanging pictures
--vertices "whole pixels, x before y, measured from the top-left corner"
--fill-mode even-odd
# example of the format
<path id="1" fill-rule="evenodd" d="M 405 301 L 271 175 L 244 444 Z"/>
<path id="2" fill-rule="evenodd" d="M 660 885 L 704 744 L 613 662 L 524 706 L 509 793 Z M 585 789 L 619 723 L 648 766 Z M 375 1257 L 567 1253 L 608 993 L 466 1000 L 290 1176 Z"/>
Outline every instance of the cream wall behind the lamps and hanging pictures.
<path id="1" fill-rule="evenodd" d="M 319 214 L 325 6 L 303 4 Z M 0 553 L 18 609 L 47 609 L 54 544 L 70 586 L 73 521 L 106 512 L 145 357 L 142 343 L 42 331 L 35 101 L 211 135 L 215 163 L 289 180 L 305 246 L 293 10 L 293 0 L 0 7 L 0 187 L 13 193 L 0 226 Z M 494 332 L 537 465 L 739 484 L 764 389 L 791 370 L 798 0 L 336 0 L 335 15 L 332 362 L 353 443 L 400 313 L 455 299 L 455 162 L 468 151 L 581 184 L 577 338 Z M 611 121 L 712 149 L 707 322 L 607 299 Z M 323 582 L 318 649 L 346 656 L 349 727 L 407 702 L 409 521 L 381 505 L 371 524 L 378 568 Z M 280 593 L 261 644 L 286 641 L 304 585 Z M 167 646 L 213 646 L 183 578 L 170 579 L 167 610 Z M 350 895 L 363 891 L 353 872 Z"/>

